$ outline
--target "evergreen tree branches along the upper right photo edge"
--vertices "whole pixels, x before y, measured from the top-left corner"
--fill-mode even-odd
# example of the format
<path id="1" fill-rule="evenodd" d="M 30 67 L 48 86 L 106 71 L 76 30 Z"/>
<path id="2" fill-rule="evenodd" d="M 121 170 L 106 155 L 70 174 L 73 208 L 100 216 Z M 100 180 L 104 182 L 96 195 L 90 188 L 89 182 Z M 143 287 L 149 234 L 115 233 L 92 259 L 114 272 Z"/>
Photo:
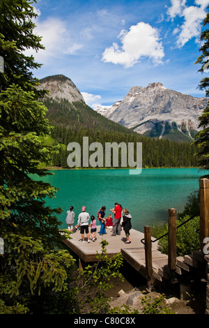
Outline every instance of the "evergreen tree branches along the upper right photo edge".
<path id="1" fill-rule="evenodd" d="M 202 43 L 200 51 L 201 56 L 197 59 L 196 64 L 201 64 L 199 72 L 203 73 L 209 66 L 209 13 L 203 21 L 203 26 L 206 29 L 201 33 L 200 41 Z M 199 89 L 206 90 L 206 97 L 209 96 L 209 77 L 204 77 Z M 199 128 L 201 131 L 195 136 L 195 143 L 198 147 L 197 155 L 199 156 L 199 165 L 204 170 L 209 170 L 209 106 L 205 108 L 203 114 L 199 117 Z"/>

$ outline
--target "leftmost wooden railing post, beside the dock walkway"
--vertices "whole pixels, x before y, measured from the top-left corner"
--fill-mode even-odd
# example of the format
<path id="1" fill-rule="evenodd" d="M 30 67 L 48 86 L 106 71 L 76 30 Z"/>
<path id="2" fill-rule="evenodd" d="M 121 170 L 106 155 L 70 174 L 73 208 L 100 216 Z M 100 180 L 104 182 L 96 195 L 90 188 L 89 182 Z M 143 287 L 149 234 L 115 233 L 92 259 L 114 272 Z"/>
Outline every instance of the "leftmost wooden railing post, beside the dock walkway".
<path id="1" fill-rule="evenodd" d="M 145 225 L 144 227 L 144 242 L 145 242 L 146 278 L 148 284 L 148 291 L 150 292 L 151 276 L 153 274 L 153 263 L 152 263 L 151 229 L 148 225 Z"/>

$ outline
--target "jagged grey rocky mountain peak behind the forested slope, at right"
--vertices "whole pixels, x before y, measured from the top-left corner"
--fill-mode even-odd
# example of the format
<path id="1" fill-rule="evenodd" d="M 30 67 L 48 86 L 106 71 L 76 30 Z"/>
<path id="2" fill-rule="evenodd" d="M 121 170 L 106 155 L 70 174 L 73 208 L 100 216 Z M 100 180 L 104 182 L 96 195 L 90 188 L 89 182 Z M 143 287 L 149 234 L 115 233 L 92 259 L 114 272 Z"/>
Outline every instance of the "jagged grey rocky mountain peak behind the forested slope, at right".
<path id="1" fill-rule="evenodd" d="M 144 88 L 132 87 L 123 100 L 96 111 L 137 133 L 191 141 L 207 102 L 207 98 L 181 94 L 157 82 Z"/>

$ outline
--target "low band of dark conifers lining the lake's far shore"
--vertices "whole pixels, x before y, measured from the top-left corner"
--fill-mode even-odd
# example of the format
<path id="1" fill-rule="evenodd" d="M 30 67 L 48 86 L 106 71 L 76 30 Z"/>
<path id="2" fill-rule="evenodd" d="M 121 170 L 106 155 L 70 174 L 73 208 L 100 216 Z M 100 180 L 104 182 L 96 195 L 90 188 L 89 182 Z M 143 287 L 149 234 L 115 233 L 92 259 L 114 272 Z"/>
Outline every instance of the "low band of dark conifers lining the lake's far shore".
<path id="1" fill-rule="evenodd" d="M 77 126 L 68 127 L 54 126 L 52 137 L 57 140 L 62 147 L 59 154 L 52 158 L 52 165 L 68 167 L 67 158 L 70 151 L 67 151 L 67 145 L 70 142 L 78 142 L 82 147 L 83 137 L 88 137 L 89 144 L 92 142 L 100 142 L 105 149 L 105 142 L 142 142 L 143 167 L 196 167 L 197 161 L 196 148 L 189 142 L 174 142 L 171 140 L 155 139 L 144 137 L 141 135 L 132 135 L 128 133 L 120 133 L 114 131 L 101 131 L 91 128 L 77 128 Z M 136 146 L 134 146 L 134 157 L 136 158 Z M 119 158 L 120 151 L 119 151 Z M 105 165 L 104 165 L 105 166 Z M 121 163 L 119 161 L 119 167 Z"/>

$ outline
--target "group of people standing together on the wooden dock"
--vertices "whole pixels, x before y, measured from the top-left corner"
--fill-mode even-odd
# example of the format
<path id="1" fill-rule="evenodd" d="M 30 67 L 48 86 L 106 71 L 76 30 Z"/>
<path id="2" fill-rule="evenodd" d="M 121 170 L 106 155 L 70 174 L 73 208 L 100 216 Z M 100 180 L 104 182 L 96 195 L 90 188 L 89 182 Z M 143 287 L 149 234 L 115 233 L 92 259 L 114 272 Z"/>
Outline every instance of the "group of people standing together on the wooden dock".
<path id="1" fill-rule="evenodd" d="M 102 206 L 100 210 L 98 211 L 97 220 L 95 219 L 95 216 L 91 216 L 91 223 L 89 224 L 90 215 L 88 212 L 86 212 L 86 207 L 82 207 L 82 212 L 78 216 L 77 225 L 73 227 L 75 223 L 75 212 L 73 211 L 74 207 L 71 206 L 69 211 L 67 211 L 66 216 L 66 223 L 68 224 L 68 230 L 70 232 L 75 232 L 77 229 L 80 230 L 80 233 L 82 234 L 82 241 L 84 241 L 84 234 L 86 232 L 88 243 L 90 242 L 89 239 L 89 228 L 91 228 L 91 239 L 92 241 L 95 241 L 96 239 L 96 232 L 97 232 L 97 220 L 100 222 L 100 235 L 106 234 L 106 228 L 112 229 L 111 236 L 116 236 L 116 234 L 121 234 L 121 227 L 123 227 L 123 230 L 125 231 L 125 237 L 126 241 L 125 244 L 130 244 L 130 230 L 132 228 L 131 224 L 131 218 L 129 211 L 127 209 L 124 209 L 121 206 L 121 204 L 118 204 L 118 202 L 115 202 L 114 208 L 110 209 L 110 211 L 114 214 L 114 221 L 109 214 L 107 218 L 105 218 L 105 211 L 106 207 Z"/>

